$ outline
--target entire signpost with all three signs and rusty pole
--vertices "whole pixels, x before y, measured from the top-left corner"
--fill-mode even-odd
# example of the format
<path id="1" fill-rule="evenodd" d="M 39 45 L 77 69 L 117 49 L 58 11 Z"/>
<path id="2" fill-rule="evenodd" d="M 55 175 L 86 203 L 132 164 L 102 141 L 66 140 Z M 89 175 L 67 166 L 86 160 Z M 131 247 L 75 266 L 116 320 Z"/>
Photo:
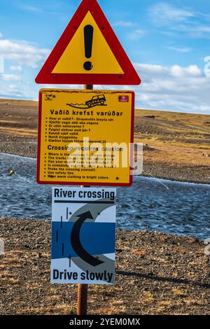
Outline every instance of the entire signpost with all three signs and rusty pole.
<path id="1" fill-rule="evenodd" d="M 83 0 L 43 64 L 36 83 L 83 84 L 83 90 L 39 92 L 37 183 L 83 187 L 73 190 L 78 193 L 77 199 L 68 188 L 57 189 L 52 198 L 51 282 L 77 283 L 77 314 L 86 315 L 88 284 L 115 281 L 116 189 L 90 186 L 132 185 L 133 154 L 127 146 L 134 141 L 134 92 L 91 90 L 93 84 L 139 85 L 141 79 L 97 0 Z M 94 160 L 87 162 L 78 153 L 77 158 L 83 162 L 85 159 L 87 170 L 76 174 L 81 162 L 76 170 L 72 169 L 74 160 L 68 152 L 73 146 L 69 148 L 69 143 L 84 141 L 85 134 L 88 142 L 100 144 L 102 165 L 107 150 L 117 151 L 121 158 L 125 151 L 128 165 L 114 162 L 118 157 L 111 153 L 105 167 L 90 168 Z M 106 147 L 106 143 L 111 146 Z"/>

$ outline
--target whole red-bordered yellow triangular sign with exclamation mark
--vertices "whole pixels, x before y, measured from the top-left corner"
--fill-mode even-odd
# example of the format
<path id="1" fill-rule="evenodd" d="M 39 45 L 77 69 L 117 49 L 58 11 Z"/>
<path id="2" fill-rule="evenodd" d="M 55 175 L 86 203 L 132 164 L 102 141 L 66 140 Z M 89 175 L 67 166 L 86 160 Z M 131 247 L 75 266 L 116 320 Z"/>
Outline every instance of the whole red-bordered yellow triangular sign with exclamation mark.
<path id="1" fill-rule="evenodd" d="M 96 0 L 83 0 L 36 83 L 139 85 L 141 80 Z"/>

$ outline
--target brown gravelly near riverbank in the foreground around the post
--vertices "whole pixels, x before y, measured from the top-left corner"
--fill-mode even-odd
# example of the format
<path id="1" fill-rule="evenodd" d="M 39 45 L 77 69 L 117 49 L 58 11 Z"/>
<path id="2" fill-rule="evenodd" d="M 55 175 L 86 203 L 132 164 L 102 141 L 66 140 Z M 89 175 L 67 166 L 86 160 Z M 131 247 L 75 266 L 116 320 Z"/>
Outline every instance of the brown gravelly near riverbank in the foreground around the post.
<path id="1" fill-rule="evenodd" d="M 50 223 L 0 219 L 0 314 L 75 314 L 76 285 L 50 283 Z M 209 314 L 209 256 L 195 238 L 117 231 L 116 285 L 89 288 L 89 314 Z"/>

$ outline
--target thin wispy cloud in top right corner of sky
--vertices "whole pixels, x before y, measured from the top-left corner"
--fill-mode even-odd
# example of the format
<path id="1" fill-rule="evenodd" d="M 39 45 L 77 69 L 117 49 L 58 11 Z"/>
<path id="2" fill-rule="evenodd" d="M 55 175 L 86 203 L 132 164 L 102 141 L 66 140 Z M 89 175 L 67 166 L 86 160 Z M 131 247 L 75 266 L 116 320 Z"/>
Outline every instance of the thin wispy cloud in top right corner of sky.
<path id="1" fill-rule="evenodd" d="M 167 27 L 169 32 L 184 32 L 193 38 L 210 38 L 210 17 L 205 13 L 162 2 L 152 6 L 149 13 L 157 27 Z"/>

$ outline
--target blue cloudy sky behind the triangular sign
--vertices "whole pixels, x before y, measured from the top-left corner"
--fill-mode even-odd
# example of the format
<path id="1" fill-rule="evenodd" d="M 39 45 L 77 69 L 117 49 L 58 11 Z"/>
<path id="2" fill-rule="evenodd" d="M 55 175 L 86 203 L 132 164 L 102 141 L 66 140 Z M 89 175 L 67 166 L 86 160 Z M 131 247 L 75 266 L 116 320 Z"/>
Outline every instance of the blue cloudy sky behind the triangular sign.
<path id="1" fill-rule="evenodd" d="M 134 90 L 138 109 L 210 114 L 210 1 L 98 2 L 142 83 L 97 89 Z M 52 87 L 34 79 L 79 4 L 0 0 L 0 98 L 38 99 Z"/>

